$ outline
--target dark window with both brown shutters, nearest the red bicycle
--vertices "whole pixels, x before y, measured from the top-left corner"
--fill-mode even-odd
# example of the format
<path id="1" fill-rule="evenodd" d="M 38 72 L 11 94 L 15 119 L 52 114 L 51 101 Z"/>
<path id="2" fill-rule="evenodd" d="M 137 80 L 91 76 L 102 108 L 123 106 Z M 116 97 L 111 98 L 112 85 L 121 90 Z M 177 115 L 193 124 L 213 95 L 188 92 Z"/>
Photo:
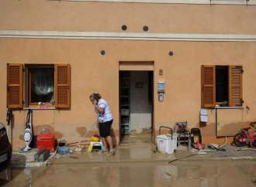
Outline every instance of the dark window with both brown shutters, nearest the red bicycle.
<path id="1" fill-rule="evenodd" d="M 202 107 L 242 106 L 242 66 L 202 66 Z"/>

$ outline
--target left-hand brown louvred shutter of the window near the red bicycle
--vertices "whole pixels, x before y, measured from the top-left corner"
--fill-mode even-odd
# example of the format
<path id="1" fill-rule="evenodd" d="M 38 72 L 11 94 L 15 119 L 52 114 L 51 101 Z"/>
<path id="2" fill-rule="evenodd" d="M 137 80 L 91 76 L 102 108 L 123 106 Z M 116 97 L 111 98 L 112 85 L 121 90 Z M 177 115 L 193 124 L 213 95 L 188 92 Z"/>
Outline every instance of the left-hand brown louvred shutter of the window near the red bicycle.
<path id="1" fill-rule="evenodd" d="M 215 107 L 215 66 L 202 66 L 202 107 Z"/>

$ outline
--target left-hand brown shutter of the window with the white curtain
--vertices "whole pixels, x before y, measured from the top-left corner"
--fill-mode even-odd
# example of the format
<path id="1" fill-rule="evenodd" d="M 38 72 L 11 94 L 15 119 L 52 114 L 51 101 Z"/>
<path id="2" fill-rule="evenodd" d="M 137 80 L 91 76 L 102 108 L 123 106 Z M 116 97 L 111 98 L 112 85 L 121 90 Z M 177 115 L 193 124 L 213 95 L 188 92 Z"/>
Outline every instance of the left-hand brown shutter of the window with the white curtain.
<path id="1" fill-rule="evenodd" d="M 23 66 L 7 64 L 7 107 L 23 107 Z"/>

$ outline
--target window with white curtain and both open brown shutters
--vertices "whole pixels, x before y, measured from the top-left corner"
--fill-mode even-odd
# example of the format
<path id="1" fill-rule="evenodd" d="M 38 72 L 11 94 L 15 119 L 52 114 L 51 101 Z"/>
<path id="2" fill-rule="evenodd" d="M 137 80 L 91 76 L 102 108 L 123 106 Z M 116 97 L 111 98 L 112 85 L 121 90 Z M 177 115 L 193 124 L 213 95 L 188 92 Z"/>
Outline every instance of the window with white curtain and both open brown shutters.
<path id="1" fill-rule="evenodd" d="M 22 64 L 8 64 L 7 107 L 36 107 L 39 102 L 70 107 L 70 65 L 25 65 L 23 69 Z"/>

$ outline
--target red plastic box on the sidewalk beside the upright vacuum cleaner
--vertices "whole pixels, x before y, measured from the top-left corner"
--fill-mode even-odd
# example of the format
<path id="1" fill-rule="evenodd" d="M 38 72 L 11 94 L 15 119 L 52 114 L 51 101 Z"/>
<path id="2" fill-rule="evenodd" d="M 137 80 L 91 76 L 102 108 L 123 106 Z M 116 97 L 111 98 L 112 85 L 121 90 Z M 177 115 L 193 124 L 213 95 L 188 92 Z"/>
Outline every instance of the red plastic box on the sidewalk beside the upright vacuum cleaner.
<path id="1" fill-rule="evenodd" d="M 55 136 L 54 134 L 39 134 L 37 136 L 37 149 L 45 148 L 54 152 L 55 150 Z"/>

